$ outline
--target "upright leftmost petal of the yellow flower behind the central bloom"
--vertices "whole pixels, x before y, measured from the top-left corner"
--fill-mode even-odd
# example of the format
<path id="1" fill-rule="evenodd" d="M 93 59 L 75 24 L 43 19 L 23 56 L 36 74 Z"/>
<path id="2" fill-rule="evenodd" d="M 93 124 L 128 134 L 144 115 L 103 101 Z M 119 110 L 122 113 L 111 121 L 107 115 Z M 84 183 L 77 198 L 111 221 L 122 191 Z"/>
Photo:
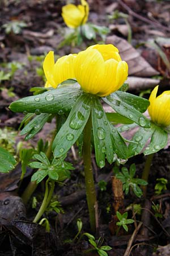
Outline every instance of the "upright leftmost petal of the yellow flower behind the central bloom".
<path id="1" fill-rule="evenodd" d="M 46 80 L 52 86 L 56 86 L 56 84 L 54 82 L 54 73 L 53 73 L 53 69 L 54 69 L 54 52 L 50 51 L 46 55 L 46 57 L 44 59 L 44 63 L 43 63 L 43 69 L 44 69 Z"/>

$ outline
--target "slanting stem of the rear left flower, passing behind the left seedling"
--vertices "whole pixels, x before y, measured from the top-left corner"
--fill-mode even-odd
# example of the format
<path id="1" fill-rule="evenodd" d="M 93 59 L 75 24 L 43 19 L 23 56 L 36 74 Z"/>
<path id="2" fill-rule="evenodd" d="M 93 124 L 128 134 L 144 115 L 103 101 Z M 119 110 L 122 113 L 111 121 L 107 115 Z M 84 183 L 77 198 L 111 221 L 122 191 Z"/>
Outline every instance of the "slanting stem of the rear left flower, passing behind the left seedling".
<path id="1" fill-rule="evenodd" d="M 48 150 L 46 151 L 46 156 L 48 159 L 50 159 L 51 155 L 52 155 L 52 144 L 54 141 L 54 138 L 56 137 L 56 133 L 57 133 L 57 115 L 56 115 L 56 130 L 54 130 L 54 133 L 52 135 L 52 139 L 50 141 Z M 22 195 L 22 200 L 23 203 L 26 205 L 30 199 L 30 197 L 32 196 L 33 192 L 35 191 L 35 189 L 37 188 L 37 183 L 36 181 L 31 181 L 29 182 L 27 188 L 25 188 L 23 195 Z"/>

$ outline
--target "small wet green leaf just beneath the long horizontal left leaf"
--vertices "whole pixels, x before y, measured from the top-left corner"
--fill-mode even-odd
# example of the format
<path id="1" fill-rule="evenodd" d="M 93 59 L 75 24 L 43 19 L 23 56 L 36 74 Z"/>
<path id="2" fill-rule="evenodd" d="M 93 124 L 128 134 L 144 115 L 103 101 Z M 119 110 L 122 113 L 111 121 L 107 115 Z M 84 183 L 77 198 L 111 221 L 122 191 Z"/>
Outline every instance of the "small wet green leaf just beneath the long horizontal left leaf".
<path id="1" fill-rule="evenodd" d="M 28 141 L 28 139 L 31 139 L 35 134 L 37 134 L 42 129 L 48 118 L 49 114 L 44 113 L 37 115 L 23 128 L 20 135 L 28 133 L 25 137 L 25 141 Z"/>

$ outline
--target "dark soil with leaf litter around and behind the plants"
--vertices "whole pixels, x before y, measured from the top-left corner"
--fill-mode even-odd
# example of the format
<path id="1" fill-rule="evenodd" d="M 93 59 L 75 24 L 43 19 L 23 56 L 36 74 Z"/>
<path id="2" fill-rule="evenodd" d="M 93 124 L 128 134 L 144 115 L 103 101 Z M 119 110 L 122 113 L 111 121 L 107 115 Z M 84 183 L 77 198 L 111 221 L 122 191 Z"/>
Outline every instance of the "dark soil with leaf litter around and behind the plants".
<path id="1" fill-rule="evenodd" d="M 57 56 L 63 56 L 70 52 L 78 52 L 86 49 L 90 44 L 95 44 L 86 40 L 80 47 L 71 48 L 64 46 L 57 48 L 63 40 L 61 31 L 65 27 L 61 16 L 62 6 L 69 1 L 23 1 L 23 0 L 2 0 L 0 2 L 0 61 L 1 70 L 8 72 L 9 68 L 4 63 L 17 61 L 21 63 L 14 75 L 9 80 L 1 81 L 0 90 L 0 128 L 8 127 L 16 131 L 14 143 L 12 144 L 16 151 L 16 144 L 20 141 L 26 147 L 30 144 L 35 147 L 37 141 L 42 138 L 44 141 L 51 137 L 50 131 L 54 129 L 54 123 L 46 123 L 42 131 L 31 139 L 24 142 L 24 136 L 20 136 L 18 128 L 24 114 L 13 113 L 8 109 L 12 101 L 19 98 L 32 95 L 29 90 L 33 86 L 44 86 L 45 80 L 42 73 L 42 61 L 45 54 L 52 50 Z M 79 1 L 74 1 L 79 3 Z M 99 26 L 109 27 L 112 24 L 116 26 L 108 36 L 116 35 L 119 38 L 128 39 L 126 32 L 122 33 L 120 25 L 126 24 L 123 18 L 109 20 L 114 10 L 129 14 L 128 22 L 133 32 L 131 44 L 138 48 L 144 41 L 163 36 L 161 45 L 162 51 L 169 58 L 170 49 L 170 21 L 169 1 L 112 1 L 112 0 L 89 0 L 90 17 L 89 21 Z M 22 20 L 27 24 L 19 34 L 10 32 L 5 33 L 3 24 L 14 20 Z M 100 39 L 99 39 L 100 40 Z M 169 71 L 167 66 L 160 59 L 158 52 L 154 48 L 144 46 L 138 48 L 138 52 L 154 68 L 155 74 L 162 76 L 160 81 L 160 91 L 168 90 L 170 85 Z M 145 73 L 145 72 L 144 72 Z M 143 75 L 141 75 L 143 76 Z M 146 76 L 146 78 L 148 78 Z M 12 88 L 12 89 L 11 89 Z M 151 89 L 152 86 L 148 86 Z M 146 88 L 145 88 L 146 89 Z M 9 94 L 10 90 L 14 93 Z M 140 88 L 134 88 L 129 92 L 139 94 Z M 148 98 L 148 93 L 145 97 Z M 87 238 L 83 237 L 79 242 L 71 242 L 78 232 L 76 221 L 80 218 L 83 222 L 83 232 L 91 233 L 88 220 L 88 211 L 86 203 L 86 192 L 84 188 L 84 172 L 82 158 L 78 155 L 75 146 L 76 157 L 73 158 L 72 151 L 69 151 L 67 160 L 73 163 L 75 170 L 71 171 L 71 178 L 65 180 L 64 184 L 57 185 L 54 191 L 54 197 L 61 202 L 63 213 L 49 212 L 44 214 L 50 223 L 50 232 L 45 232 L 45 228 L 32 222 L 37 211 L 40 208 L 44 194 L 44 184 L 42 183 L 33 193 L 38 203 L 36 208 L 32 208 L 32 199 L 25 207 L 20 198 L 24 188 L 28 185 L 33 170 L 27 168 L 27 174 L 20 184 L 21 167 L 16 166 L 15 170 L 9 174 L 1 174 L 0 183 L 0 255 L 2 256 L 80 256 L 80 255 L 99 255 L 96 251 L 87 252 L 91 248 Z M 128 169 L 132 163 L 136 164 L 137 177 L 141 177 L 145 166 L 146 157 L 141 154 L 130 158 L 125 163 Z M 0 163 L 1 164 L 1 163 Z M 92 157 L 92 166 L 94 168 L 94 177 L 96 184 L 100 180 L 107 181 L 104 191 L 96 185 L 98 201 L 98 228 L 95 234 L 96 240 L 103 238 L 103 245 L 109 245 L 112 250 L 107 251 L 109 256 L 151 256 L 151 255 L 170 255 L 170 185 L 169 185 L 169 167 L 170 156 L 169 147 L 160 150 L 154 155 L 147 187 L 147 197 L 138 198 L 132 191 L 128 195 L 115 198 L 113 167 L 115 163 L 108 163 L 102 169 L 96 166 L 95 158 Z M 121 168 L 121 167 L 120 167 Z M 168 180 L 167 189 L 160 195 L 155 195 L 156 179 L 163 177 Z M 121 186 L 120 186 L 121 192 Z M 117 201 L 116 201 L 117 200 Z M 143 210 L 141 214 L 135 214 L 135 226 L 129 225 L 128 232 L 120 229 L 116 236 L 117 219 L 116 207 L 123 213 L 130 208 L 131 204 L 141 204 Z M 159 213 L 162 217 L 155 216 L 152 208 L 158 205 Z M 128 210 L 128 218 L 134 216 L 132 210 Z M 141 229 L 137 230 L 140 222 L 143 222 Z M 141 225 L 141 224 L 140 224 Z M 135 227 L 135 228 L 134 228 Z M 134 236 L 134 230 L 137 231 Z M 133 240 L 130 249 L 130 240 Z M 156 251 L 156 249 L 158 249 Z M 125 253 L 126 251 L 126 253 Z"/>

